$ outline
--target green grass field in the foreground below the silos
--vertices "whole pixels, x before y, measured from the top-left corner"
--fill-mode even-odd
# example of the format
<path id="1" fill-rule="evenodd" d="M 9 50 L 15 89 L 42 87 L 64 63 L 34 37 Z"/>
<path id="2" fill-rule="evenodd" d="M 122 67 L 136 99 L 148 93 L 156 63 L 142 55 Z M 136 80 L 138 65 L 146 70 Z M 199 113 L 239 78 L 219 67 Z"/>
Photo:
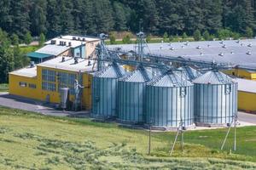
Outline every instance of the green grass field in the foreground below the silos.
<path id="1" fill-rule="evenodd" d="M 153 133 L 148 156 L 147 131 L 0 107 L 0 169 L 255 169 L 256 127 L 237 129 L 236 153 L 219 150 L 225 130 L 184 133 L 172 157 L 175 133 Z"/>

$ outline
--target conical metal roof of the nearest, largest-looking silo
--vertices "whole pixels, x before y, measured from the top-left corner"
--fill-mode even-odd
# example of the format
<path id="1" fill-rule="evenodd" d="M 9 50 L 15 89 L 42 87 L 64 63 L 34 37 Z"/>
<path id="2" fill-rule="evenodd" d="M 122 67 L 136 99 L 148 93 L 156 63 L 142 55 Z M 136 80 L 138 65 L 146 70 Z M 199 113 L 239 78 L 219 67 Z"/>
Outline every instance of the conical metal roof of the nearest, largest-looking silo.
<path id="1" fill-rule="evenodd" d="M 177 73 L 173 71 L 167 71 L 160 77 L 155 78 L 152 82 L 149 82 L 148 85 L 154 87 L 183 87 L 183 86 L 192 86 L 193 84 L 188 80 L 180 77 Z"/>

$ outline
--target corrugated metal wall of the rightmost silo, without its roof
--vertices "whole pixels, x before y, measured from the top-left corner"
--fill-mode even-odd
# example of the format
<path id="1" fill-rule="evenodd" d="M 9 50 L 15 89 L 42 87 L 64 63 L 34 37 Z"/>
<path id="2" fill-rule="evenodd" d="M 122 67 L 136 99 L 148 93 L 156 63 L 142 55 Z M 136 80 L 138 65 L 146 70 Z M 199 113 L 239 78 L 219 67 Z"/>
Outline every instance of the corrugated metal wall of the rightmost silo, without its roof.
<path id="1" fill-rule="evenodd" d="M 195 84 L 195 122 L 229 123 L 236 113 L 237 83 Z"/>

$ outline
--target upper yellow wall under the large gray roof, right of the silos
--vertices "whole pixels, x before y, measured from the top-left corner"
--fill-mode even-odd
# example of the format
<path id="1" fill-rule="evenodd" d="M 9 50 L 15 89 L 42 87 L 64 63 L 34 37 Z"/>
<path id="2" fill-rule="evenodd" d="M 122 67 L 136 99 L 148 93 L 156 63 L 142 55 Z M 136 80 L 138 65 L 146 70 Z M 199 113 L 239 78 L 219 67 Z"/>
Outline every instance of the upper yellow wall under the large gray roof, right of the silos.
<path id="1" fill-rule="evenodd" d="M 232 69 L 232 70 L 224 71 L 224 73 L 228 75 L 233 75 L 236 77 L 245 78 L 248 80 L 256 80 L 256 72 L 249 72 L 242 69 Z"/>

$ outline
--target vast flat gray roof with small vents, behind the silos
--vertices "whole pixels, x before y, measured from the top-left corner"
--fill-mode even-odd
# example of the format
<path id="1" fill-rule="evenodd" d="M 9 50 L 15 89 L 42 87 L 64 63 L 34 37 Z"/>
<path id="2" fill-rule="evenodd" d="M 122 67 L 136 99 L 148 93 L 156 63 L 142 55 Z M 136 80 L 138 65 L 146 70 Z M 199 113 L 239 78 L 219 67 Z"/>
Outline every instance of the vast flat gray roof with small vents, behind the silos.
<path id="1" fill-rule="evenodd" d="M 137 51 L 137 44 L 108 45 L 110 49 Z M 256 68 L 256 39 L 148 43 L 145 54 L 216 61 L 232 65 Z"/>

